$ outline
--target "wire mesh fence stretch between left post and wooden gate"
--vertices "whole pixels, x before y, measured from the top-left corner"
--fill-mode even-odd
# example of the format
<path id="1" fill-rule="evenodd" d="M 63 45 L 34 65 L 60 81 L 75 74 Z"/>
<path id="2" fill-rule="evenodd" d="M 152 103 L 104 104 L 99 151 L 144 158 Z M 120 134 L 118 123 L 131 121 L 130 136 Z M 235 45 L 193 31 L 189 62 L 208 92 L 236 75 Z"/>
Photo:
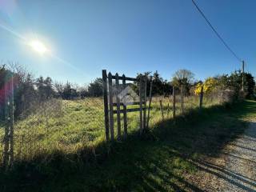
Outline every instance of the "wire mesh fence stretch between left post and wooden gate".
<path id="1" fill-rule="evenodd" d="M 75 153 L 104 136 L 102 98 L 38 102 L 14 125 L 14 158 L 31 159 L 54 151 Z"/>

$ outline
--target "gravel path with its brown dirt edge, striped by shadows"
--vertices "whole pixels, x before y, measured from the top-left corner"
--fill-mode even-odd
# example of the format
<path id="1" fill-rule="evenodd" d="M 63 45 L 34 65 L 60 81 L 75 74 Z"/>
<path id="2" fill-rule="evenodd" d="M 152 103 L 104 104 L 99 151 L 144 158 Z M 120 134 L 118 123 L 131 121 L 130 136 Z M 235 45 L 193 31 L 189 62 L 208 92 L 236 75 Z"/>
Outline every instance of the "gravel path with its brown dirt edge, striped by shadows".
<path id="1" fill-rule="evenodd" d="M 193 161 L 199 173 L 188 180 L 200 190 L 256 192 L 256 121 L 222 151 L 220 158 Z"/>

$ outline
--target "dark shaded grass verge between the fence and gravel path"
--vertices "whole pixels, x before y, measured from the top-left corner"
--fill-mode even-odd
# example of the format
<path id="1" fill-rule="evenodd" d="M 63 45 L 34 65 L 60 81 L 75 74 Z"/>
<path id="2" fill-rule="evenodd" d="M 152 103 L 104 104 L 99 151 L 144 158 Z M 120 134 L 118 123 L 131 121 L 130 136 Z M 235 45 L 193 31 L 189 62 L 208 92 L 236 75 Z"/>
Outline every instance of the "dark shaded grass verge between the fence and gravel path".
<path id="1" fill-rule="evenodd" d="M 94 148 L 94 160 L 54 153 L 47 162 L 42 163 L 42 158 L 21 162 L 1 174 L 0 190 L 200 191 L 186 180 L 186 175 L 198 169 L 190 159 L 218 156 L 255 114 L 256 102 L 252 101 L 191 110 L 175 122 L 158 123 L 143 138 L 130 135 L 126 142 L 110 147 L 99 144 Z M 103 152 L 106 149 L 108 154 Z"/>

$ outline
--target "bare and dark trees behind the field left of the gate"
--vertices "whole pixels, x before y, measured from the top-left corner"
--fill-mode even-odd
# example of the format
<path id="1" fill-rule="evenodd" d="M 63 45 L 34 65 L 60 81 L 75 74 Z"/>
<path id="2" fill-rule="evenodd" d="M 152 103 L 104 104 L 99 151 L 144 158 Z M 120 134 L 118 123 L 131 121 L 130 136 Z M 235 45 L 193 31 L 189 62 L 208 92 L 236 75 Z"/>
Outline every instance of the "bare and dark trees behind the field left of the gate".
<path id="1" fill-rule="evenodd" d="M 32 106 L 50 98 L 76 99 L 102 96 L 102 78 L 96 78 L 85 86 L 71 82 L 54 82 L 52 78 L 34 78 L 34 75 L 17 63 L 0 66 L 0 120 L 4 118 L 4 85 L 10 81 L 6 74 L 12 74 L 14 82 L 14 116 L 29 113 Z M 10 76 L 10 75 L 9 75 Z"/>

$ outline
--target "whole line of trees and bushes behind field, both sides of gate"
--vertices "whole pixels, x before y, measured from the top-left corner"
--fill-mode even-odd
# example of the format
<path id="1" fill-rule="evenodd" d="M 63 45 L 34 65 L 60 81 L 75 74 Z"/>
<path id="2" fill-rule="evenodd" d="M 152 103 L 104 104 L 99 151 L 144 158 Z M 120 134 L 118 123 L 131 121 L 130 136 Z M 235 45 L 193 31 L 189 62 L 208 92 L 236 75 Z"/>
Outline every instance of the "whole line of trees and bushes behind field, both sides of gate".
<path id="1" fill-rule="evenodd" d="M 4 76 L 8 71 L 12 71 L 14 74 L 14 106 L 15 115 L 22 114 L 22 111 L 29 109 L 34 105 L 34 102 L 43 102 L 50 98 L 62 98 L 62 99 L 76 99 L 86 97 L 101 97 L 102 91 L 102 78 L 96 78 L 93 82 L 90 82 L 86 86 L 78 86 L 71 82 L 54 82 L 52 78 L 42 76 L 34 78 L 34 75 L 28 72 L 24 67 L 18 64 L 10 64 L 8 66 L 0 66 L 0 90 L 6 82 Z M 173 87 L 180 90 L 181 86 L 184 88 L 185 94 L 191 93 L 191 89 L 194 86 L 203 85 L 207 92 L 209 90 L 234 90 L 235 97 L 238 98 L 242 90 L 242 76 L 244 78 L 244 91 L 243 94 L 246 98 L 255 98 L 255 82 L 254 77 L 250 73 L 242 74 L 241 70 L 235 70 L 231 74 L 222 74 L 207 78 L 205 82 L 194 80 L 194 74 L 190 70 L 178 70 L 176 71 L 170 81 L 167 81 L 161 77 L 158 71 L 145 72 L 138 74 L 137 78 L 145 77 L 147 81 L 147 87 L 150 87 L 150 80 L 153 82 L 152 95 L 165 95 L 172 94 Z M 138 82 L 130 84 L 132 88 L 138 92 Z M 211 88 L 210 88 L 211 87 Z M 150 89 L 147 89 L 149 94 Z M 3 95 L 0 94 L 0 115 L 3 113 Z"/>

